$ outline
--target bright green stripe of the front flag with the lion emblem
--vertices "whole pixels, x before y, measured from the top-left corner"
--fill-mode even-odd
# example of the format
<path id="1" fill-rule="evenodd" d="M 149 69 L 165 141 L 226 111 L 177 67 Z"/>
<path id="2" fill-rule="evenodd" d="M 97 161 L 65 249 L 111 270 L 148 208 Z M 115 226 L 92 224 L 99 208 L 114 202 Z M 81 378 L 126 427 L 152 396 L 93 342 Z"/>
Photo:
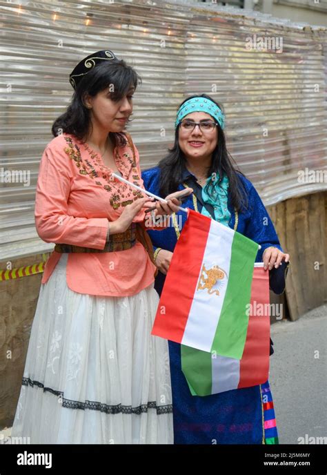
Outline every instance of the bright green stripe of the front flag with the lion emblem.
<path id="1" fill-rule="evenodd" d="M 212 351 L 240 360 L 246 342 L 251 284 L 258 244 L 235 231 L 232 240 L 226 294 L 217 325 Z"/>

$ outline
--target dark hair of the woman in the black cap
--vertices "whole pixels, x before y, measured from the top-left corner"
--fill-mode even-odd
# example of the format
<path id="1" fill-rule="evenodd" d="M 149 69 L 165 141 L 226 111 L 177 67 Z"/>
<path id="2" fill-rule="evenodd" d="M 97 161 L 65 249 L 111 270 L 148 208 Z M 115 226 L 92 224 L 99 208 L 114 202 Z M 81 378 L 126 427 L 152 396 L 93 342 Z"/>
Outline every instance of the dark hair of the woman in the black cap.
<path id="1" fill-rule="evenodd" d="M 97 93 L 113 85 L 115 92 L 111 93 L 110 99 L 119 101 L 124 97 L 131 87 L 137 88 L 141 83 L 141 78 L 137 72 L 126 64 L 123 59 L 112 61 L 101 61 L 95 68 L 92 68 L 77 84 L 75 93 L 65 113 L 61 114 L 52 124 L 52 135 L 57 137 L 61 133 L 75 135 L 81 142 L 85 142 L 92 122 L 90 119 L 90 109 L 83 100 L 86 95 L 95 97 Z M 129 121 L 130 122 L 130 121 Z M 109 133 L 115 145 L 124 145 L 125 137 L 122 133 Z"/>

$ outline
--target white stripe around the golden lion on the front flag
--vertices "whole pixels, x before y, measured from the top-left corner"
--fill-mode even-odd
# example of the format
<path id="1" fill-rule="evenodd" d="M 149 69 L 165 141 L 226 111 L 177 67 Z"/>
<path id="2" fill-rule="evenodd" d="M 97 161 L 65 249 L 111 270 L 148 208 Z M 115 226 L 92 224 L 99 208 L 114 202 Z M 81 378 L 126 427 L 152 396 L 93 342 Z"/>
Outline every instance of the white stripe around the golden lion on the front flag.
<path id="1" fill-rule="evenodd" d="M 211 220 L 204 258 L 202 260 L 202 265 L 205 264 L 207 270 L 217 264 L 229 276 L 234 234 L 235 231 L 232 229 L 217 223 L 215 220 Z M 207 278 L 206 273 L 204 273 L 204 278 Z M 208 289 L 195 290 L 195 298 L 193 298 L 184 335 L 181 340 L 182 345 L 195 347 L 202 351 L 211 351 L 221 308 L 224 303 L 227 282 L 228 279 L 225 275 L 224 280 L 219 280 L 217 286 L 215 285 L 214 289 L 219 290 L 219 295 L 216 293 L 209 294 Z"/>

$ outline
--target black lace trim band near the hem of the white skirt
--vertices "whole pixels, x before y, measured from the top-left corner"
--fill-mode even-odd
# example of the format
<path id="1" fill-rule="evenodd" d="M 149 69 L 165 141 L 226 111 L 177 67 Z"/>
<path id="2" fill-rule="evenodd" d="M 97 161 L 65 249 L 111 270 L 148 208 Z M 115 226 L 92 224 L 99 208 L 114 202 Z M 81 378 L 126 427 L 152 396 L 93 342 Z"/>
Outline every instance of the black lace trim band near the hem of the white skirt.
<path id="1" fill-rule="evenodd" d="M 88 401 L 81 403 L 80 401 L 75 401 L 72 399 L 66 399 L 63 397 L 62 391 L 56 391 L 51 387 L 44 387 L 44 385 L 39 381 L 32 381 L 30 378 L 23 378 L 23 386 L 37 386 L 43 389 L 43 392 L 50 392 L 54 396 L 61 396 L 63 407 L 68 407 L 68 409 L 92 409 L 93 411 L 101 411 L 106 414 L 141 414 L 143 412 L 148 412 L 148 409 L 156 409 L 157 414 L 169 414 L 172 412 L 172 405 L 168 404 L 166 406 L 157 406 L 155 401 L 150 401 L 148 404 L 142 404 L 138 407 L 132 406 L 123 406 L 117 404 L 115 406 L 110 406 L 108 404 L 97 403 L 96 401 Z"/>

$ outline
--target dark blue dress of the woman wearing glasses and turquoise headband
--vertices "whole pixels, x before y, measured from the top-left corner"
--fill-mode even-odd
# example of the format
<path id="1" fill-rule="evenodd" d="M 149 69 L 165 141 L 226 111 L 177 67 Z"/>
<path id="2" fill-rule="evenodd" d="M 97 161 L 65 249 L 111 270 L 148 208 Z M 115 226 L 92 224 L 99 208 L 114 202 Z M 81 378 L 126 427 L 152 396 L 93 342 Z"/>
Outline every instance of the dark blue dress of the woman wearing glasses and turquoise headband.
<path id="1" fill-rule="evenodd" d="M 145 188 L 156 195 L 159 195 L 159 176 L 160 171 L 157 167 L 142 173 Z M 246 189 L 248 209 L 242 213 L 235 213 L 228 194 L 227 209 L 224 205 L 224 208 L 222 207 L 224 200 L 221 201 L 218 197 L 217 202 L 211 202 L 212 217 L 215 216 L 219 221 L 220 217 L 222 221 L 227 217 L 229 222 L 226 224 L 230 228 L 261 244 L 256 258 L 256 262 L 261 262 L 262 254 L 268 246 L 276 246 L 278 249 L 281 249 L 281 246 L 273 223 L 254 186 L 242 175 L 239 177 Z M 186 169 L 183 178 L 185 182 L 190 178 L 190 173 Z M 179 190 L 184 189 L 185 182 L 179 186 Z M 183 206 L 208 215 L 195 195 L 199 196 L 199 191 L 190 195 Z M 204 193 L 202 197 L 206 202 Z M 163 231 L 148 231 L 154 249 L 160 247 L 174 251 L 180 229 L 185 222 L 186 213 L 179 211 L 175 215 L 174 226 L 169 226 Z M 285 287 L 284 275 L 284 265 L 279 269 L 273 269 L 270 272 L 270 289 L 281 293 Z M 165 275 L 159 272 L 155 280 L 155 288 L 159 295 L 164 280 Z M 278 443 L 273 398 L 268 382 L 264 385 L 210 396 L 192 396 L 181 371 L 181 345 L 170 341 L 169 355 L 175 444 Z"/>

